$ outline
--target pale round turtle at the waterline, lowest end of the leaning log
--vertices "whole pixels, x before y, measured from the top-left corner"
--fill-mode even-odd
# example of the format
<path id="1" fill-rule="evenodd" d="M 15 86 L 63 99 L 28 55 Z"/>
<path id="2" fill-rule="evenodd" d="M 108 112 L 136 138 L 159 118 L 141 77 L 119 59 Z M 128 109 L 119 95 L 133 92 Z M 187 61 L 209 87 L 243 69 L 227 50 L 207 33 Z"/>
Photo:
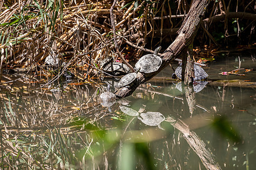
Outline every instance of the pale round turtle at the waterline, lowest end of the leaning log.
<path id="1" fill-rule="evenodd" d="M 104 107 L 111 107 L 115 103 L 115 95 L 110 92 L 110 85 L 108 85 L 108 91 L 100 95 L 99 101 Z"/>

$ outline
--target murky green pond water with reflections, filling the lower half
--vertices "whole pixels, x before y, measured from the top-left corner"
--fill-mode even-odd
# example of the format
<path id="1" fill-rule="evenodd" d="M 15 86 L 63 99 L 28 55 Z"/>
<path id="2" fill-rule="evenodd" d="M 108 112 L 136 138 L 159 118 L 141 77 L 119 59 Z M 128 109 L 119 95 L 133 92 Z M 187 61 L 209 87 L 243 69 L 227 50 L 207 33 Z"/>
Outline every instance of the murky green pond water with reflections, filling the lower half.
<path id="1" fill-rule="evenodd" d="M 256 82 L 255 71 L 218 74 L 255 69 L 255 59 L 250 52 L 224 54 L 205 71 L 210 79 Z M 171 74 L 166 68 L 158 76 Z M 250 85 L 209 84 L 186 96 L 175 83 L 151 80 L 106 108 L 97 101 L 104 89 L 90 83 L 60 84 L 51 91 L 15 83 L 1 86 L 2 168 L 256 167 L 256 88 Z M 120 107 L 133 111 L 125 114 Z"/>

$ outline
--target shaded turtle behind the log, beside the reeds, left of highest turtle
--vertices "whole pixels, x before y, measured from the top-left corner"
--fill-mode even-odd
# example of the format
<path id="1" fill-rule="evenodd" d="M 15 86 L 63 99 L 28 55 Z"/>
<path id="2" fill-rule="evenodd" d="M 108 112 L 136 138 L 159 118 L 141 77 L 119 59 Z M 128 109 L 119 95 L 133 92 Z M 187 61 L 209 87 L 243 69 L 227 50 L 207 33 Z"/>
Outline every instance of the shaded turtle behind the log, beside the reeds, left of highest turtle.
<path id="1" fill-rule="evenodd" d="M 119 76 L 130 73 L 131 70 L 128 66 L 121 62 L 109 62 L 103 66 L 103 71 L 110 75 Z"/>

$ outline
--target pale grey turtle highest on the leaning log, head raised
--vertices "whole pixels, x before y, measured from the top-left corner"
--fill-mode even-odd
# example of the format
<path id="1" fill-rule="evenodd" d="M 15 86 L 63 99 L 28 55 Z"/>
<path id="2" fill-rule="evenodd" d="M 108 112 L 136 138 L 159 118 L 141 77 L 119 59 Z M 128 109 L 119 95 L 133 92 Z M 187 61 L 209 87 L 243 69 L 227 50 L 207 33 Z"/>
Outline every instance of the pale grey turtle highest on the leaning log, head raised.
<path id="1" fill-rule="evenodd" d="M 154 54 L 147 54 L 142 56 L 137 63 L 135 63 L 134 70 L 138 70 L 141 73 L 153 73 L 157 71 L 162 65 L 162 58 L 157 56 L 158 52 L 162 47 L 159 46 L 155 49 Z"/>

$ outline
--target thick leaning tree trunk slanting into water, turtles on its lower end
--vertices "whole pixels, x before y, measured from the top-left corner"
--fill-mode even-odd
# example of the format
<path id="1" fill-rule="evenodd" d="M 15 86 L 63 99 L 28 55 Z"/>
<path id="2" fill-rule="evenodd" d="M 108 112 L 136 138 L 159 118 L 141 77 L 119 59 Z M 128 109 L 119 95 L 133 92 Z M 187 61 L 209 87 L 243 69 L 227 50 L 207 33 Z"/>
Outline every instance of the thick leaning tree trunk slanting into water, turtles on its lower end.
<path id="1" fill-rule="evenodd" d="M 130 87 L 121 87 L 118 91 L 115 92 L 117 98 L 122 98 L 131 95 L 135 89 L 151 79 L 153 76 L 158 74 L 164 67 L 168 66 L 169 63 L 177 58 L 183 50 L 187 49 L 189 45 L 193 43 L 193 38 L 196 35 L 197 29 L 199 27 L 200 20 L 205 14 L 205 10 L 209 4 L 208 0 L 195 0 L 188 12 L 188 15 L 185 17 L 179 31 L 178 36 L 175 41 L 164 51 L 162 54 L 163 62 L 158 71 L 154 73 L 137 73 L 137 82 Z"/>

